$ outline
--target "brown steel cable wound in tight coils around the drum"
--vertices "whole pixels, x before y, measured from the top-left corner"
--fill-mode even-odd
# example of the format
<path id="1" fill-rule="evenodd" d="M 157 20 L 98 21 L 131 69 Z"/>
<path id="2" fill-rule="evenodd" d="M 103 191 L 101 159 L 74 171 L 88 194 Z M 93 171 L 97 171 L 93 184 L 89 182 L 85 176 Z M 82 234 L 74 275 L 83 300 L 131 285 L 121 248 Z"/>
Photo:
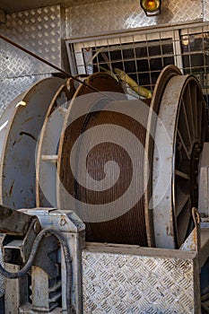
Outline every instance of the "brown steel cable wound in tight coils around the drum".
<path id="1" fill-rule="evenodd" d="M 108 105 L 109 103 L 107 106 Z M 121 103 L 121 100 L 114 102 L 114 106 L 119 106 L 119 108 L 122 105 L 123 103 Z M 83 118 L 76 119 L 74 123 L 72 123 L 66 129 L 65 147 L 63 149 L 63 155 L 70 156 L 74 143 L 77 141 L 78 136 L 80 136 L 78 151 L 75 153 L 76 165 L 74 168 L 76 173 L 74 175 L 71 167 L 66 165 L 66 162 L 69 161 L 66 161 L 64 157 L 62 161 L 63 172 L 62 177 L 60 178 L 62 178 L 61 181 L 66 190 L 71 195 L 73 195 L 76 200 L 79 201 L 79 204 L 83 203 L 82 210 L 80 205 L 76 206 L 76 213 L 79 216 L 85 216 L 83 220 L 86 222 L 87 240 L 134 244 L 137 243 L 140 239 L 140 244 L 146 246 L 147 242 L 144 223 L 143 197 L 143 149 L 140 150 L 138 147 L 135 147 L 134 150 L 132 149 L 132 154 L 134 155 L 132 158 L 135 158 L 135 162 L 138 161 L 138 173 L 135 178 L 137 182 L 132 193 L 135 194 L 133 195 L 133 198 L 138 198 L 138 202 L 133 206 L 133 208 L 130 208 L 126 214 L 123 214 L 116 219 L 108 220 L 108 218 L 104 218 L 105 215 L 103 211 L 108 210 L 108 203 L 112 204 L 111 210 L 115 213 L 118 212 L 118 205 L 123 205 L 121 202 L 117 202 L 117 200 L 126 193 L 126 190 L 133 178 L 133 171 L 136 170 L 133 168 L 132 158 L 130 157 L 129 153 L 126 152 L 130 138 L 126 136 L 126 143 L 124 143 L 125 139 L 123 137 L 122 142 L 126 147 L 126 149 L 124 149 L 124 147 L 122 147 L 120 144 L 121 141 L 119 141 L 117 137 L 117 135 L 121 136 L 120 134 L 117 134 L 118 128 L 121 132 L 123 128 L 126 128 L 126 130 L 128 129 L 130 133 L 139 139 L 140 143 L 144 144 L 146 135 L 144 126 L 141 126 L 137 121 L 135 121 L 134 118 L 130 118 L 124 114 L 121 114 L 120 112 L 109 111 L 109 109 L 106 110 L 105 106 L 101 111 L 92 112 L 88 117 L 88 121 L 83 121 Z M 91 130 L 94 130 L 95 133 L 91 133 Z M 101 135 L 100 131 L 97 132 L 97 130 L 101 130 L 103 134 Z M 85 135 L 83 138 L 81 135 L 86 134 L 88 131 L 90 131 L 90 135 Z M 74 135 L 72 135 L 72 133 L 74 133 Z M 104 135 L 107 136 L 106 140 L 102 140 Z M 112 135 L 111 138 L 113 138 L 116 143 L 112 143 L 112 141 L 108 140 L 109 135 Z M 92 143 L 98 142 L 101 143 L 95 144 L 91 148 Z M 86 155 L 86 152 L 89 152 L 86 159 L 86 171 L 88 171 L 88 175 L 94 180 L 94 188 L 85 188 L 84 184 L 79 184 L 79 182 L 82 181 L 82 177 L 85 172 L 85 167 L 81 167 L 81 164 L 83 156 Z M 117 174 L 114 173 L 114 165 L 112 168 L 110 166 L 110 177 L 113 179 L 114 183 L 112 187 L 106 188 L 108 184 L 105 178 L 107 176 L 108 170 L 105 170 L 105 167 L 109 161 L 114 161 L 117 163 L 119 168 L 119 176 L 117 179 L 114 179 L 114 176 L 117 177 Z M 76 177 L 76 179 L 74 179 L 74 177 Z M 87 184 L 88 178 L 84 178 L 84 180 L 86 180 L 84 183 Z M 139 197 L 139 194 L 142 197 Z M 64 197 L 60 197 L 60 199 L 61 202 L 64 201 Z M 128 200 L 126 200 L 126 202 L 128 202 Z M 98 206 L 98 210 L 96 209 L 96 211 L 94 211 L 93 218 L 89 213 L 91 212 L 91 205 Z M 60 208 L 63 207 L 66 208 L 66 204 L 60 205 Z M 110 216 L 112 214 L 110 214 Z M 135 216 L 134 224 L 130 223 L 133 215 Z"/>

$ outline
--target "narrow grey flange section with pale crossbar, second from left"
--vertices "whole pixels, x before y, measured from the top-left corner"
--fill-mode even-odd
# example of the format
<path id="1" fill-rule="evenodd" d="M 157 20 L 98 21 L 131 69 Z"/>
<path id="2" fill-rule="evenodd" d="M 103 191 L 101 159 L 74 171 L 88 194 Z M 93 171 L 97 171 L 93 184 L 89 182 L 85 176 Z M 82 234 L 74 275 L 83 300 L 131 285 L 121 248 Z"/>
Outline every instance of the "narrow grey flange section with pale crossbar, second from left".
<path id="1" fill-rule="evenodd" d="M 57 145 L 69 104 L 68 100 L 70 100 L 70 93 L 63 84 L 48 107 L 39 135 L 36 163 L 37 206 L 57 207 Z"/>

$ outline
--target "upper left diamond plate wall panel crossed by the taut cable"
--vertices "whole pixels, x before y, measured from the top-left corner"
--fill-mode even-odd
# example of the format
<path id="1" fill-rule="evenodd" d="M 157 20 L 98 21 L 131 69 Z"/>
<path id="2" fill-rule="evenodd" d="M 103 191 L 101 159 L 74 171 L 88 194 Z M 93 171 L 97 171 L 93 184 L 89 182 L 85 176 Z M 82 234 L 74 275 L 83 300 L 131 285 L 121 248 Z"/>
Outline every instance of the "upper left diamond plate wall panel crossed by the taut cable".
<path id="1" fill-rule="evenodd" d="M 0 27 L 0 31 L 5 37 L 61 67 L 62 22 L 65 24 L 65 18 L 61 21 L 60 6 L 48 6 L 7 14 L 6 23 Z M 0 60 L 3 65 L 1 77 L 46 74 L 49 71 L 47 65 L 3 41 L 0 42 Z"/>

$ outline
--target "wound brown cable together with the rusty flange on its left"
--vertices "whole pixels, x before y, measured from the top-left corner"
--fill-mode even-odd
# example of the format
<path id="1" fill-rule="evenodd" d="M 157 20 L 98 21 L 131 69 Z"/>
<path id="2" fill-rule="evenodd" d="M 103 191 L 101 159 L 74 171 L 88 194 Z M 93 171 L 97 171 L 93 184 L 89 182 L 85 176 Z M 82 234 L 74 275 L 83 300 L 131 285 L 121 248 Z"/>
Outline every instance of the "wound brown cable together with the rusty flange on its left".
<path id="1" fill-rule="evenodd" d="M 126 214 L 122 214 L 122 216 L 118 216 L 116 219 L 110 219 L 105 222 L 103 221 L 104 218 L 101 217 L 100 210 L 96 211 L 96 214 L 93 218 L 93 220 L 96 220 L 97 222 L 91 222 L 91 214 L 88 214 L 88 205 L 95 205 L 95 207 L 98 206 L 98 208 L 102 207 L 101 205 L 104 205 L 102 210 L 106 211 L 107 203 L 113 204 L 115 200 L 121 198 L 130 185 L 134 170 L 131 158 L 128 153 L 126 153 L 126 150 L 121 147 L 119 143 L 114 144 L 107 142 L 109 135 L 107 135 L 108 137 L 106 142 L 95 145 L 95 147 L 93 147 L 91 150 L 90 146 L 86 147 L 86 144 L 88 145 L 88 143 L 94 146 L 94 143 L 100 142 L 101 135 L 96 130 L 98 126 L 104 128 L 103 132 L 101 131 L 103 135 L 105 135 L 108 131 L 109 134 L 113 135 L 113 137 L 115 136 L 115 139 L 117 139 L 118 136 L 117 134 L 114 134 L 114 132 L 118 132 L 115 130 L 115 126 L 119 126 L 120 129 L 124 128 L 126 130 L 129 127 L 130 134 L 134 134 L 135 138 L 139 139 L 139 142 L 142 143 L 142 153 L 144 153 L 144 142 L 146 135 L 145 126 L 140 125 L 140 123 L 138 123 L 135 118 L 128 117 L 126 114 L 121 112 L 121 108 L 123 108 L 121 106 L 126 106 L 127 100 L 123 90 L 115 79 L 109 77 L 108 74 L 93 74 L 89 78 L 88 83 L 100 89 L 102 92 L 108 92 L 107 98 L 105 99 L 104 94 L 95 95 L 95 93 L 92 94 L 91 91 L 86 91 L 85 86 L 82 86 L 80 90 L 77 91 L 77 94 L 74 95 L 73 104 L 70 106 L 71 108 L 69 110 L 69 115 L 68 118 L 66 118 L 66 125 L 69 123 L 69 121 L 71 122 L 69 123 L 69 126 L 64 126 L 65 132 L 60 140 L 57 165 L 59 173 L 58 178 L 60 179 L 61 186 L 64 187 L 65 190 L 74 197 L 74 203 L 76 204 L 76 200 L 78 200 L 80 204 L 83 203 L 83 210 L 86 208 L 85 214 L 89 216 L 87 220 L 90 220 L 90 222 L 86 222 L 86 219 L 84 219 L 86 222 L 87 240 L 134 244 L 138 242 L 138 239 L 141 239 L 141 244 L 147 245 L 142 191 L 142 198 L 139 197 L 136 205 L 133 206 L 133 209 L 130 208 L 131 213 L 129 213 L 128 210 Z M 83 97 L 83 95 L 88 95 L 89 93 L 91 93 L 89 97 Z M 80 98 L 78 96 L 80 96 Z M 81 103 L 78 103 L 79 101 L 81 101 Z M 86 114 L 79 114 L 79 117 L 74 119 L 72 117 L 73 110 L 79 106 L 84 107 L 86 102 L 89 102 L 87 106 L 90 106 L 90 112 L 88 112 L 88 109 L 86 109 Z M 137 107 L 138 101 L 136 101 L 135 104 Z M 100 107 L 102 109 L 100 109 Z M 109 110 L 109 108 L 111 108 L 111 110 Z M 146 116 L 144 117 L 144 123 L 146 123 L 148 112 L 148 110 L 145 110 L 144 112 Z M 72 122 L 73 119 L 74 121 Z M 85 170 L 81 170 L 79 173 L 76 173 L 76 179 L 74 179 L 74 173 L 69 165 L 69 156 L 71 156 L 72 147 L 74 146 L 74 143 L 77 141 L 77 139 L 81 137 L 81 135 L 86 134 L 87 130 L 91 129 L 94 129 L 95 133 L 90 135 L 91 138 L 84 140 L 84 145 L 83 139 L 80 138 L 78 144 L 79 150 L 75 154 L 75 170 L 79 170 L 81 167 L 83 154 L 90 151 L 87 157 L 86 170 L 88 171 L 89 176 L 94 180 L 94 183 L 96 183 L 96 185 L 98 183 L 100 187 L 95 186 L 93 189 L 88 189 L 78 182 L 81 180 L 81 177 L 83 177 Z M 92 136 L 96 137 L 93 139 Z M 129 140 L 130 139 L 127 138 L 128 142 L 126 144 L 129 144 Z M 143 189 L 143 156 L 140 156 L 140 153 L 137 149 L 133 153 L 135 154 L 135 158 L 138 160 L 139 172 L 136 178 L 138 181 L 138 188 Z M 112 187 L 106 188 L 105 184 L 107 182 L 103 180 L 105 177 L 104 168 L 109 161 L 117 162 L 120 169 L 120 175 Z M 114 174 L 111 174 L 111 176 L 112 175 L 114 177 Z M 79 176 L 80 178 L 78 178 Z M 104 182 L 103 186 L 102 181 Z M 59 193 L 61 193 L 60 190 L 61 189 L 59 187 Z M 135 189 L 133 193 L 135 193 L 135 197 L 138 197 L 139 191 Z M 65 196 L 65 193 L 61 194 L 61 196 L 58 196 L 58 206 L 60 208 L 67 208 L 67 206 L 69 206 L 67 200 L 68 197 Z M 118 204 L 118 202 L 116 202 L 116 204 Z M 83 216 L 81 213 L 81 208 L 79 209 L 79 205 L 75 205 L 75 207 L 76 213 Z M 118 212 L 118 207 L 112 207 L 112 211 Z M 131 222 L 131 216 L 133 214 L 137 220 L 135 225 L 129 223 Z M 102 222 L 100 222 L 100 220 Z M 126 228 L 124 226 L 126 226 Z M 124 232 L 125 229 L 126 232 Z M 128 236 L 128 234 L 130 234 L 130 236 Z"/>

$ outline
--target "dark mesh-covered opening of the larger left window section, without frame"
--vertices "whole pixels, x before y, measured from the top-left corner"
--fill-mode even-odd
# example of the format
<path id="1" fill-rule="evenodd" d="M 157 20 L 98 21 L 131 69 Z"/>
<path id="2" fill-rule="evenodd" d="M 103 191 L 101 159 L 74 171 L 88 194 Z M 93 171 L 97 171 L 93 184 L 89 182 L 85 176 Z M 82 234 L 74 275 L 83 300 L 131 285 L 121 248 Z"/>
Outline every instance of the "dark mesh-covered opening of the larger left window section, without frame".
<path id="1" fill-rule="evenodd" d="M 174 63 L 174 51 L 171 39 L 159 39 L 83 48 L 83 58 L 87 74 L 105 70 L 114 73 L 114 69 L 119 68 L 137 84 L 152 90 L 161 69 Z"/>

